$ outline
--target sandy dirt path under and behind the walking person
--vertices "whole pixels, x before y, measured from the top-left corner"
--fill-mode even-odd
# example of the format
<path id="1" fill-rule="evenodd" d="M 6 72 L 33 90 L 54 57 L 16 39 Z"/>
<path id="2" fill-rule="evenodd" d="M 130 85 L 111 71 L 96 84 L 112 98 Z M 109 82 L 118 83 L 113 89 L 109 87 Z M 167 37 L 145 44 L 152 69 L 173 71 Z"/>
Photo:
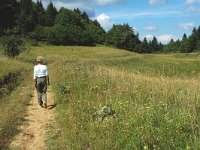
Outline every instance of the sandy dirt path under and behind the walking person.
<path id="1" fill-rule="evenodd" d="M 16 135 L 10 144 L 10 149 L 20 150 L 46 150 L 45 127 L 54 119 L 54 95 L 51 89 L 47 92 L 47 109 L 41 108 L 37 103 L 37 92 L 34 91 L 33 98 L 27 107 L 25 123 L 19 128 L 20 133 Z"/>

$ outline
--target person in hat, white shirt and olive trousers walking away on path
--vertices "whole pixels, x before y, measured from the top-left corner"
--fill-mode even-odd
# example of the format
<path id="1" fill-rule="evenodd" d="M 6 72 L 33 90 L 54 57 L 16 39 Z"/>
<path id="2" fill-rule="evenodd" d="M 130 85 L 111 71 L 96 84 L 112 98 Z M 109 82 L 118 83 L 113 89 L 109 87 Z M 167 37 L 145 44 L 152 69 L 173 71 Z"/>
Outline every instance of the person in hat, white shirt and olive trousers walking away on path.
<path id="1" fill-rule="evenodd" d="M 43 65 L 43 57 L 37 56 L 37 65 L 34 66 L 34 85 L 37 89 L 38 104 L 47 108 L 47 86 L 50 85 L 47 66 Z"/>

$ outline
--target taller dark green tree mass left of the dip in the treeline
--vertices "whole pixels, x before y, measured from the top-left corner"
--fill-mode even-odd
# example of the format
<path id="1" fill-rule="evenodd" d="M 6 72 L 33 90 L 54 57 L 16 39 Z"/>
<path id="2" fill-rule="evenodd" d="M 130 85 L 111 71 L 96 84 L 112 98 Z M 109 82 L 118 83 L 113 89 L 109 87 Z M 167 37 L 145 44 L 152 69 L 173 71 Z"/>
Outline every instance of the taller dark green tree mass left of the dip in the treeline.
<path id="1" fill-rule="evenodd" d="M 1 0 L 0 36 L 19 35 L 54 45 L 103 44 L 105 31 L 97 20 L 90 20 L 78 8 L 59 11 L 50 2 Z"/>

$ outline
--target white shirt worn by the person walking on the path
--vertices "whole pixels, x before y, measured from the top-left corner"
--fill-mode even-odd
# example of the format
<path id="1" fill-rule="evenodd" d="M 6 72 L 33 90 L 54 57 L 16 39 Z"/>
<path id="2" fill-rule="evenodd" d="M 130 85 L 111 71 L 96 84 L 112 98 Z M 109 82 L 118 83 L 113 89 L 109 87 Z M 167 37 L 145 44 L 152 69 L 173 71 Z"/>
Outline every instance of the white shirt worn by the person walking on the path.
<path id="1" fill-rule="evenodd" d="M 47 66 L 38 64 L 34 66 L 34 75 L 33 78 L 36 79 L 37 77 L 45 77 L 48 75 Z"/>

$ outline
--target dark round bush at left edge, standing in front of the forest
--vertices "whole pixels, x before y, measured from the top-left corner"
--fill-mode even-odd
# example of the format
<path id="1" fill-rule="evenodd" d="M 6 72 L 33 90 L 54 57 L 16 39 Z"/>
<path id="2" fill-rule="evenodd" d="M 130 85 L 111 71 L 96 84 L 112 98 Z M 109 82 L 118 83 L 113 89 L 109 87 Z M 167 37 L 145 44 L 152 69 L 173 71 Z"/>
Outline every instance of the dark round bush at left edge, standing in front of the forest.
<path id="1" fill-rule="evenodd" d="M 2 46 L 4 53 L 9 57 L 15 57 L 25 49 L 23 39 L 16 35 L 4 36 Z"/>

